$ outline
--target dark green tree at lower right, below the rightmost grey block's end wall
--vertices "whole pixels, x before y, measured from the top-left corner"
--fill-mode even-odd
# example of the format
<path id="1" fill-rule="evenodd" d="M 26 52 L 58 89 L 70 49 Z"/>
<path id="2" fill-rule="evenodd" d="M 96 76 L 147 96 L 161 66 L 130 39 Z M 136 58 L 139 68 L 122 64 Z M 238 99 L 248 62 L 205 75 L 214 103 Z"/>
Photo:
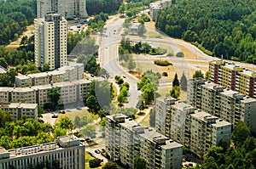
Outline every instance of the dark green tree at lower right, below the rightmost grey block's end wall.
<path id="1" fill-rule="evenodd" d="M 231 139 L 236 146 L 241 146 L 250 137 L 250 134 L 251 132 L 246 124 L 243 121 L 239 121 L 232 132 Z"/>

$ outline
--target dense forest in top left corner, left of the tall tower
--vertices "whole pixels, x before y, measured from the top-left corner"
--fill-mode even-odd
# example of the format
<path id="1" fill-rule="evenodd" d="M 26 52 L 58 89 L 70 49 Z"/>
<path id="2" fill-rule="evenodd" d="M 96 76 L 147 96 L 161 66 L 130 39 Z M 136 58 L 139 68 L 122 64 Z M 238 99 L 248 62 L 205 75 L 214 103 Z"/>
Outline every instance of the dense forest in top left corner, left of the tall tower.
<path id="1" fill-rule="evenodd" d="M 15 40 L 33 23 L 36 0 L 0 0 L 0 45 Z"/>

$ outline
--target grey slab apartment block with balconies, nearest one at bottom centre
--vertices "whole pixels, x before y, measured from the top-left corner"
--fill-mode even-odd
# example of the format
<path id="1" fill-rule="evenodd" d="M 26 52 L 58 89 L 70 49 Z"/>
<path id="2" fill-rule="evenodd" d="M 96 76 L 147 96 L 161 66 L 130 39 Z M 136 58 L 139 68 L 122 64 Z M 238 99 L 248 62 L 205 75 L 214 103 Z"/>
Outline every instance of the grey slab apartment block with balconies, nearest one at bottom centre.
<path id="1" fill-rule="evenodd" d="M 181 144 L 121 114 L 107 115 L 106 153 L 129 168 L 136 156 L 145 159 L 148 169 L 182 167 Z"/>

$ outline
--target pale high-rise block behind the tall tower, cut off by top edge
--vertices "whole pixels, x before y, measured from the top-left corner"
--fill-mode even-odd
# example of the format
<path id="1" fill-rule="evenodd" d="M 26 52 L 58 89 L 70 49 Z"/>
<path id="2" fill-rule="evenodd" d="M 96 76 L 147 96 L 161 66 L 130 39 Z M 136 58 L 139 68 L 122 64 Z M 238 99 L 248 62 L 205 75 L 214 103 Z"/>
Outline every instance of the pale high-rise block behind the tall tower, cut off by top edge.
<path id="1" fill-rule="evenodd" d="M 45 14 L 61 14 L 66 19 L 87 18 L 86 0 L 38 0 L 38 18 Z"/>

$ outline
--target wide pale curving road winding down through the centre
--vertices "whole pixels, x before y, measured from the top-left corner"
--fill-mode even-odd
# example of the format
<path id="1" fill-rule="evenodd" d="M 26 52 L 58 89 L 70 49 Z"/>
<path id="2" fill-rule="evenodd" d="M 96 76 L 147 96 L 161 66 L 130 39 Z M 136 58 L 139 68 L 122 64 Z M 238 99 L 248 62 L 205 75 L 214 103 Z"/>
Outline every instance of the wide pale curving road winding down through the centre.
<path id="1" fill-rule="evenodd" d="M 125 19 L 114 18 L 108 20 L 107 31 L 102 36 L 101 48 L 99 49 L 99 60 L 102 67 L 108 70 L 110 76 L 125 76 L 125 82 L 130 84 L 128 102 L 125 107 L 136 107 L 138 96 L 141 95 L 137 91 L 137 82 L 139 80 L 131 76 L 121 65 L 119 65 L 118 43 L 121 40 L 122 24 Z"/>

